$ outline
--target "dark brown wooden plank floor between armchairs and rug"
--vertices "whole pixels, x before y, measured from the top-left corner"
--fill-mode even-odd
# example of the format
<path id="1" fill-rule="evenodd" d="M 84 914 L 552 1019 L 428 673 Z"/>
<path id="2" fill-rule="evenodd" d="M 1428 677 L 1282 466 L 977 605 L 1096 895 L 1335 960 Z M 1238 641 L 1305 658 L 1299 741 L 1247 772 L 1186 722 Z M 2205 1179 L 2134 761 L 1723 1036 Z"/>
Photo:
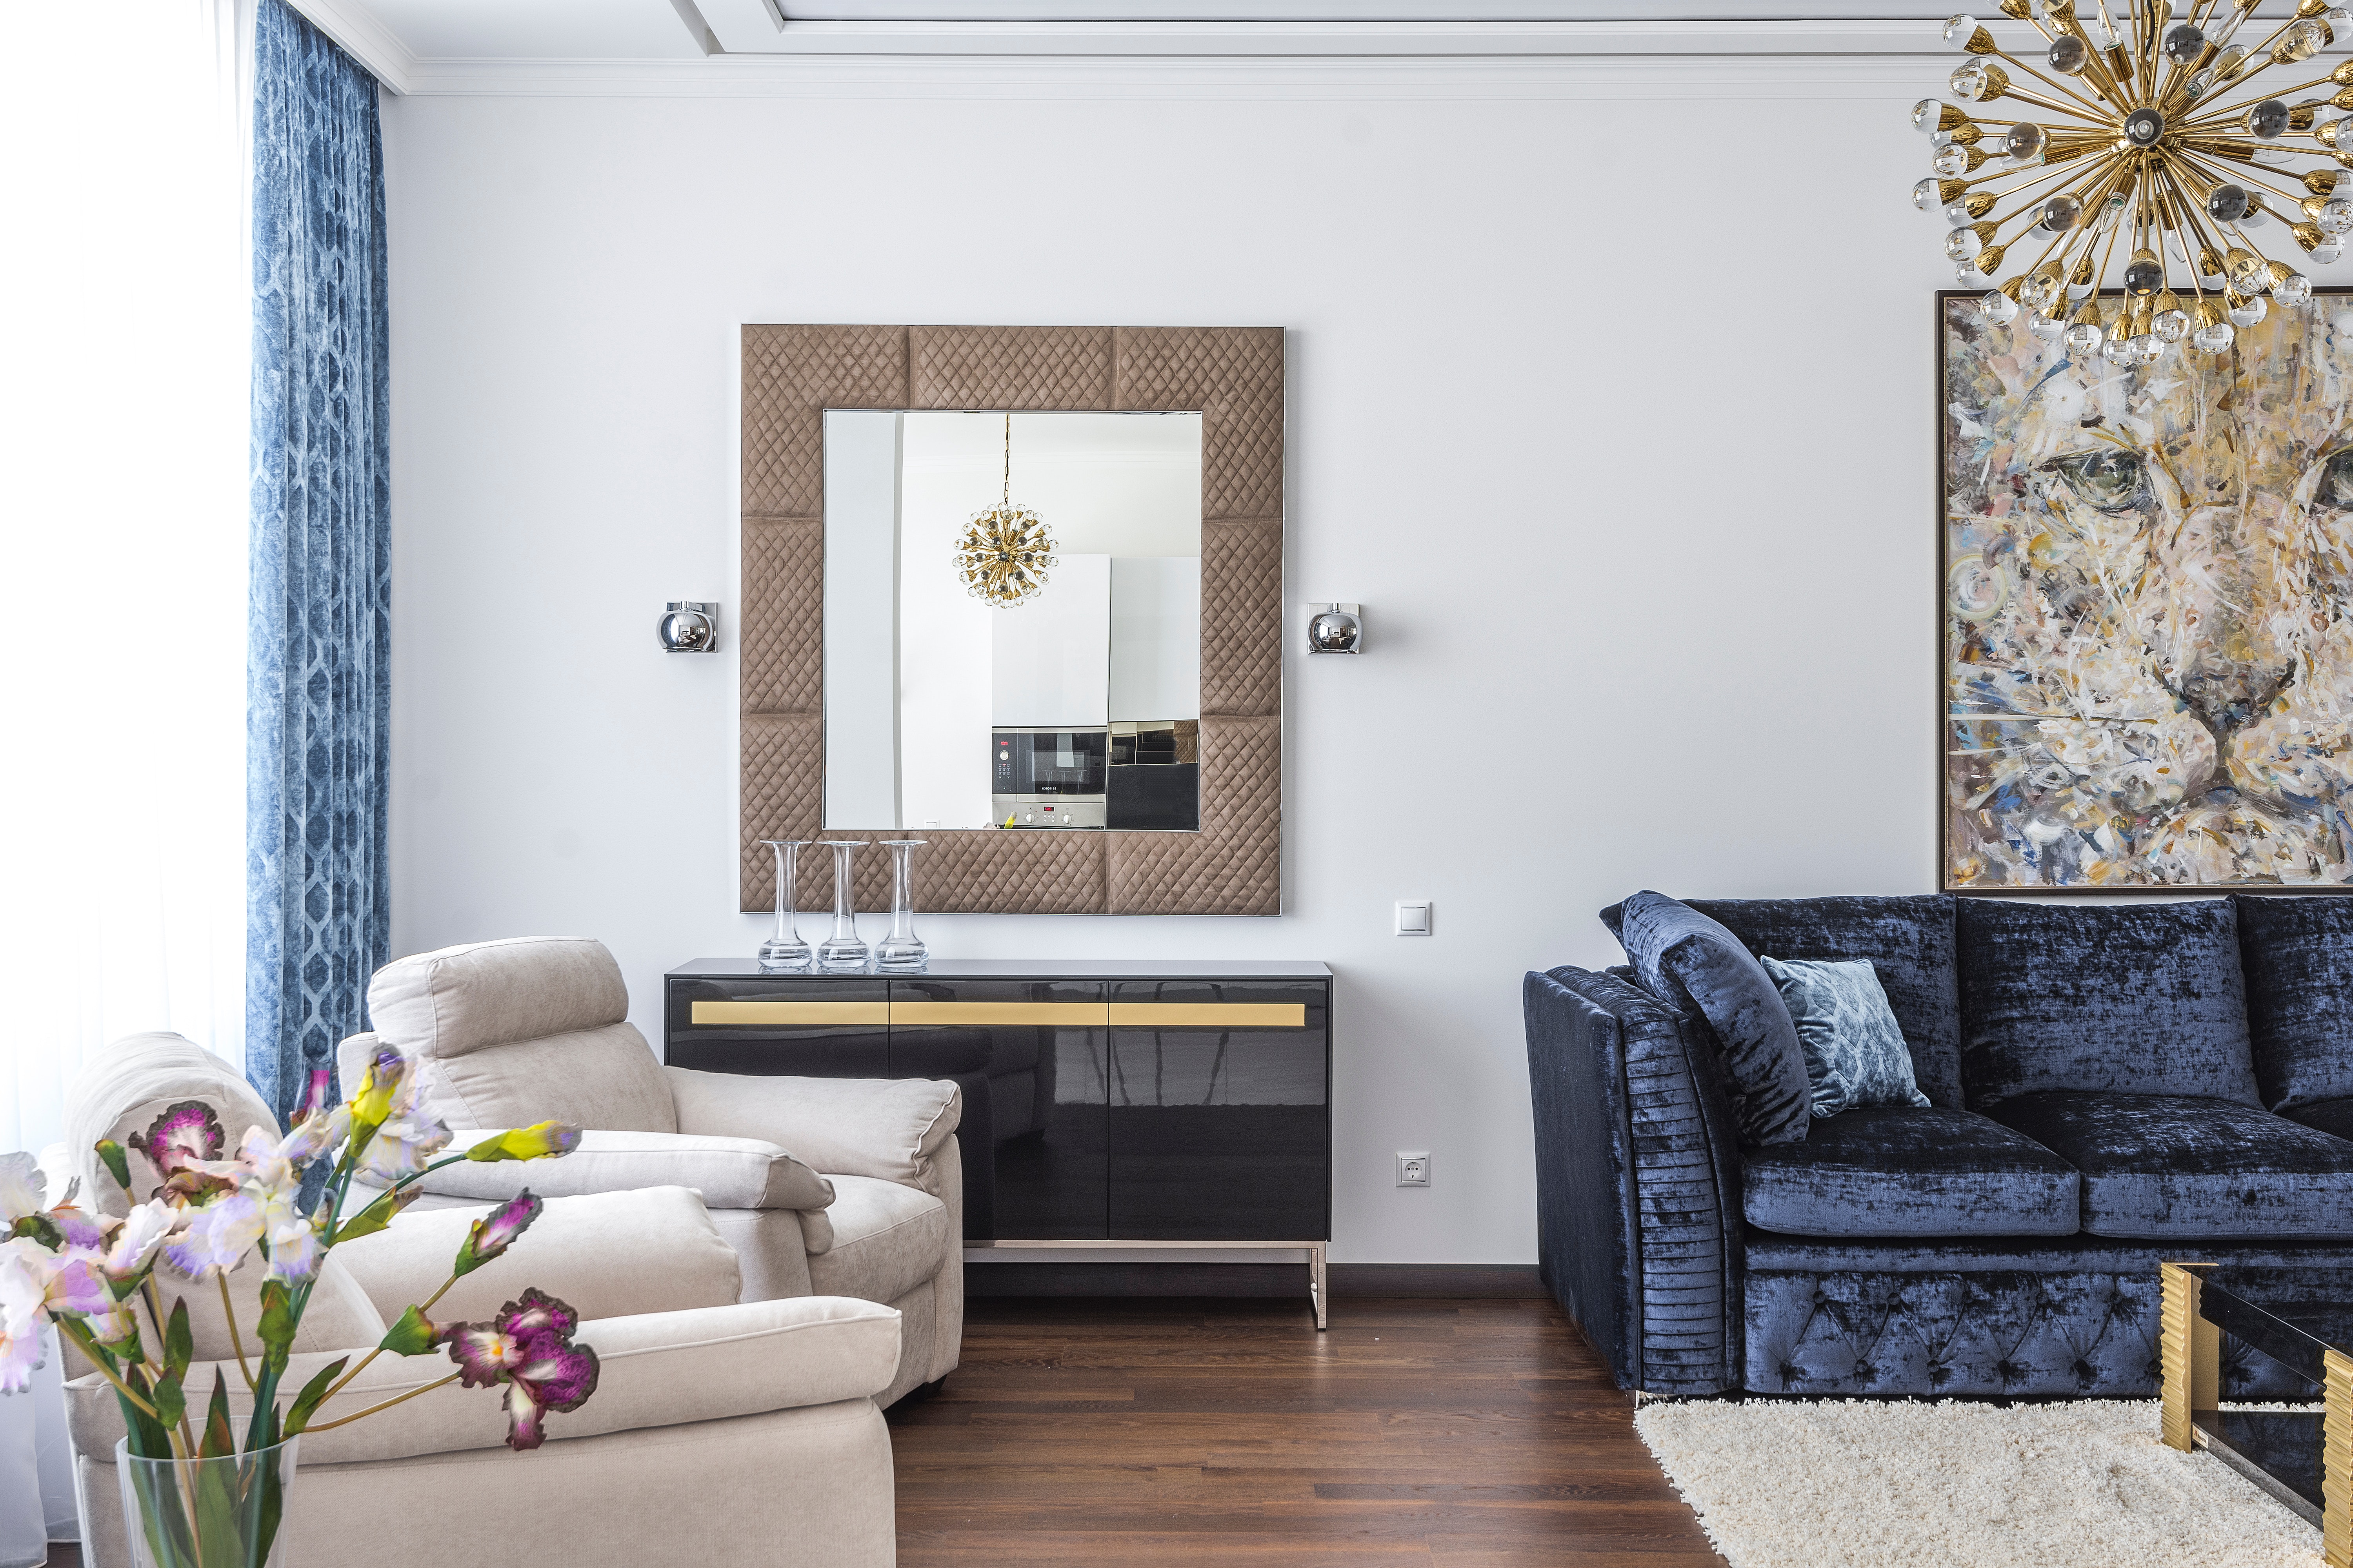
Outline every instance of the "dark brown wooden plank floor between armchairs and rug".
<path id="1" fill-rule="evenodd" d="M 1548 1300 L 974 1300 L 899 1563 L 1722 1568 Z"/>

